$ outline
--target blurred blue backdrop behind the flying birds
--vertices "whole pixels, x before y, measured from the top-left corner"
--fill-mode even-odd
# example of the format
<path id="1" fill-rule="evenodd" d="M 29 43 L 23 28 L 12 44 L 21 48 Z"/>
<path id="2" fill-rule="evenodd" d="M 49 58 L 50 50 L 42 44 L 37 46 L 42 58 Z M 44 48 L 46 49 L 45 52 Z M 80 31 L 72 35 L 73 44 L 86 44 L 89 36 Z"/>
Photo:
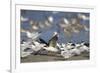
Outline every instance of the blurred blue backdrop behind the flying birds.
<path id="1" fill-rule="evenodd" d="M 51 33 L 54 31 L 58 31 L 60 30 L 59 33 L 59 40 L 58 42 L 60 43 L 66 43 L 66 42 L 73 42 L 73 43 L 78 43 L 81 41 L 86 41 L 89 42 L 89 32 L 90 31 L 85 31 L 85 30 L 81 30 L 80 33 L 73 33 L 71 37 L 66 36 L 63 31 L 61 29 L 59 29 L 59 21 L 61 20 L 61 18 L 65 17 L 68 19 L 68 21 L 71 21 L 72 18 L 76 18 L 78 14 L 83 14 L 87 17 L 89 17 L 89 13 L 81 13 L 81 12 L 55 12 L 55 11 L 39 11 L 39 10 L 21 10 L 21 16 L 23 18 L 28 18 L 29 20 L 34 20 L 34 21 L 45 21 L 47 19 L 48 16 L 52 16 L 53 17 L 53 25 L 50 28 L 47 29 L 39 29 L 38 31 L 42 32 L 42 36 L 44 36 L 44 38 L 46 40 L 48 40 L 48 38 L 51 36 Z M 86 25 L 88 28 L 90 28 L 89 26 L 89 22 L 90 20 L 80 20 L 81 24 Z M 25 30 L 30 30 L 32 29 L 32 27 L 29 24 L 29 21 L 26 22 L 21 22 L 21 29 L 25 29 Z M 24 33 L 21 33 L 21 39 L 25 38 L 26 35 Z"/>

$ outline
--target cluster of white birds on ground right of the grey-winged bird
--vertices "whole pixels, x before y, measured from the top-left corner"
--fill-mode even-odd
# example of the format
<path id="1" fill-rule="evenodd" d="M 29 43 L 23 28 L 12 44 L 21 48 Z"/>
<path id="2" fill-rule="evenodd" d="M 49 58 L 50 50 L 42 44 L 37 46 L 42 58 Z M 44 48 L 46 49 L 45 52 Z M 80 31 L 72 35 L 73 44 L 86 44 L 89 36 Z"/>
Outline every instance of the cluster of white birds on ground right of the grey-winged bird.
<path id="1" fill-rule="evenodd" d="M 68 43 L 67 45 L 63 46 L 63 51 L 61 51 L 61 55 L 64 58 L 70 58 L 75 55 L 80 55 L 82 52 L 89 52 L 89 47 L 81 44 L 75 44 L 74 46 L 72 43 Z"/>

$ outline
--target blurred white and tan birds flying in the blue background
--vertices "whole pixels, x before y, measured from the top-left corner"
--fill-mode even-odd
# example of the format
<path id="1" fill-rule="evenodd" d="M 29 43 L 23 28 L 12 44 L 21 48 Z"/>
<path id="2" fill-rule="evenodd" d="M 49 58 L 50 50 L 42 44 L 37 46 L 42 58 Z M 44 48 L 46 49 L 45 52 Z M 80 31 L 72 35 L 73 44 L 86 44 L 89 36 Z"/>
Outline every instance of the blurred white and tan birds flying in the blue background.
<path id="1" fill-rule="evenodd" d="M 62 17 L 59 21 L 59 26 L 63 28 L 63 31 L 65 34 L 70 35 L 71 33 L 79 33 L 81 29 L 84 29 L 85 31 L 89 31 L 89 28 L 86 25 L 82 25 L 80 23 L 80 20 L 89 20 L 89 17 L 84 14 L 77 14 L 77 18 L 71 18 L 68 20 L 65 17 Z M 39 29 L 45 29 L 46 27 L 51 27 L 54 22 L 53 16 L 48 16 L 46 20 L 43 21 L 34 21 L 29 20 L 29 18 L 24 18 L 21 16 L 21 21 L 29 21 L 29 24 L 32 26 L 32 30 L 39 30 Z"/>

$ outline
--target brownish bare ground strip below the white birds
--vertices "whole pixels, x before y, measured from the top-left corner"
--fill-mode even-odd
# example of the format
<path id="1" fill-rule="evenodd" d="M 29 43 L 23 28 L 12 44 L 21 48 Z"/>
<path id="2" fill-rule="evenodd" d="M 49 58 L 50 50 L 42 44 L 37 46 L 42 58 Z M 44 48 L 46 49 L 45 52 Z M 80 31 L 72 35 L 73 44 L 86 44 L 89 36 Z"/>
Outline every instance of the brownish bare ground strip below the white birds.
<path id="1" fill-rule="evenodd" d="M 51 61 L 74 61 L 74 60 L 89 60 L 89 53 L 82 53 L 78 56 L 73 56 L 68 59 L 64 59 L 62 56 L 52 55 L 29 55 L 28 57 L 21 58 L 21 63 L 32 62 L 51 62 Z"/>

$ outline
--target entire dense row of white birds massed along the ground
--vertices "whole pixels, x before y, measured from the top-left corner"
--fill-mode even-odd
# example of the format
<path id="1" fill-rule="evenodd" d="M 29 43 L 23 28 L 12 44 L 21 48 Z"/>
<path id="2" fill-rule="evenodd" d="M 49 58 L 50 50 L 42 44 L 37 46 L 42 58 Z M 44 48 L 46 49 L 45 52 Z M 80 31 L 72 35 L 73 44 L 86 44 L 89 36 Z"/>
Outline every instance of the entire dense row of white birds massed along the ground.
<path id="1" fill-rule="evenodd" d="M 21 57 L 27 57 L 32 53 L 37 53 L 42 49 L 55 53 L 60 51 L 61 56 L 65 59 L 72 56 L 80 55 L 82 52 L 89 52 L 89 47 L 84 45 L 84 43 L 74 45 L 73 43 L 62 43 L 61 45 L 57 43 L 57 47 L 58 48 L 46 46 L 46 44 L 42 44 L 37 41 L 23 42 L 21 44 Z"/>

